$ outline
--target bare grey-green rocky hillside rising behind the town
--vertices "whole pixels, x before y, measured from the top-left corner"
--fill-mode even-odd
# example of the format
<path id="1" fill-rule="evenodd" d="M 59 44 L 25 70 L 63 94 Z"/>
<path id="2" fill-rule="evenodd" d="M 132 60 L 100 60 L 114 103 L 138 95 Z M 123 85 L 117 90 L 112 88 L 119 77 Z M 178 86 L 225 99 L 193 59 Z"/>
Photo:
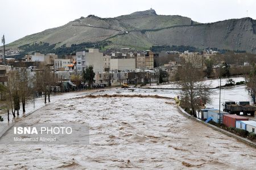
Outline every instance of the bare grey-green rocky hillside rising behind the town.
<path id="1" fill-rule="evenodd" d="M 200 24 L 183 16 L 157 15 L 152 9 L 116 18 L 89 15 L 23 37 L 8 47 L 47 42 L 57 48 L 105 40 L 110 42 L 109 47 L 148 49 L 152 45 L 189 45 L 256 53 L 256 20 L 242 18 Z"/>

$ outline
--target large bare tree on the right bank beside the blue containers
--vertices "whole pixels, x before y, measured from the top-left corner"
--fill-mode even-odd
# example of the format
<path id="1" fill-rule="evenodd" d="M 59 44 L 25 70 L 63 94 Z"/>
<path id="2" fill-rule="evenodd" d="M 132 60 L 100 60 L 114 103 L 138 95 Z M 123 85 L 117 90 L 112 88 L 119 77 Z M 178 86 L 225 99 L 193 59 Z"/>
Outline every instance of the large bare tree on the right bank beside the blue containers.
<path id="1" fill-rule="evenodd" d="M 210 85 L 201 82 L 201 58 L 197 55 L 186 56 L 183 59 L 183 69 L 180 71 L 179 86 L 181 107 L 191 110 L 193 116 L 197 117 L 196 111 L 200 105 L 211 102 L 209 90 Z"/>

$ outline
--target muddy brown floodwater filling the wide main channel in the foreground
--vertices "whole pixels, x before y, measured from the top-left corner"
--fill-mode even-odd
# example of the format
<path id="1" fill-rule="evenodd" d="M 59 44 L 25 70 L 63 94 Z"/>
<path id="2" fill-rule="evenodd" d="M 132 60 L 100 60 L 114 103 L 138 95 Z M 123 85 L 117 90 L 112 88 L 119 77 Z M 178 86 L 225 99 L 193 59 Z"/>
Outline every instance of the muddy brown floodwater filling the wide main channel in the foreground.
<path id="1" fill-rule="evenodd" d="M 0 168 L 255 169 L 255 148 L 188 120 L 173 103 L 136 96 L 56 101 L 20 122 L 88 122 L 90 144 L 0 145 Z"/>

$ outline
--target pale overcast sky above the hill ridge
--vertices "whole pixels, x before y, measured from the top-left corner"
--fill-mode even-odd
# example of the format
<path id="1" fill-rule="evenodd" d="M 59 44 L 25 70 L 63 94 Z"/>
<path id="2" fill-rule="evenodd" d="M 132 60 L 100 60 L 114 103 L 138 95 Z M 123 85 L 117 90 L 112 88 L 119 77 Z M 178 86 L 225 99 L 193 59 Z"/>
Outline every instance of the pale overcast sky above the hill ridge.
<path id="1" fill-rule="evenodd" d="M 187 16 L 200 23 L 256 19 L 256 0 L 0 0 L 0 35 L 5 34 L 7 44 L 81 16 L 109 18 L 151 7 L 159 15 Z"/>

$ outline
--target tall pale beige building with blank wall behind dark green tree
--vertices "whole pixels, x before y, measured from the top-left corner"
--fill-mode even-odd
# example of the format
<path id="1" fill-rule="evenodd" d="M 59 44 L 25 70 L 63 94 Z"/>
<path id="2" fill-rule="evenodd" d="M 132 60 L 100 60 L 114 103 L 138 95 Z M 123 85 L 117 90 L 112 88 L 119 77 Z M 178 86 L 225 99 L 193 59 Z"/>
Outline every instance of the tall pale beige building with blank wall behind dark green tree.
<path id="1" fill-rule="evenodd" d="M 93 66 L 94 73 L 104 71 L 103 53 L 100 53 L 98 49 L 89 49 L 89 52 L 85 53 L 85 61 L 85 66 Z"/>

